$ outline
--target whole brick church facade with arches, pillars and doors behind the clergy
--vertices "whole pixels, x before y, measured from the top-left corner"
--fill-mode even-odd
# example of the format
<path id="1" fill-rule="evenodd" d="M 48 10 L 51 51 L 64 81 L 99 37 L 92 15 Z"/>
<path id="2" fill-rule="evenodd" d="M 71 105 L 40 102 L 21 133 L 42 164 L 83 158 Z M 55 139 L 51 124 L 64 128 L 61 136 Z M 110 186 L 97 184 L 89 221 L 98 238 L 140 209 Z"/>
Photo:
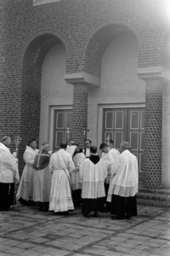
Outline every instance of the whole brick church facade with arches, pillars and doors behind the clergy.
<path id="1" fill-rule="evenodd" d="M 145 188 L 170 186 L 168 0 L 1 0 L 0 135 L 57 148 L 131 144 Z M 21 170 L 21 169 L 20 169 Z"/>

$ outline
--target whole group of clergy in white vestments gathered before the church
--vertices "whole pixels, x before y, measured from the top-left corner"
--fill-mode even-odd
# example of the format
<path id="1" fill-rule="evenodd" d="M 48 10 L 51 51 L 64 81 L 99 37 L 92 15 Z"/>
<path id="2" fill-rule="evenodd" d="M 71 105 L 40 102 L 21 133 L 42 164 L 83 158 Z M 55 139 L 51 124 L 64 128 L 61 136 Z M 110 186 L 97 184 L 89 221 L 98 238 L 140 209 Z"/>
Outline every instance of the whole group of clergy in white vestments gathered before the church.
<path id="1" fill-rule="evenodd" d="M 100 145 L 98 154 L 90 140 L 83 150 L 71 141 L 69 145 L 61 143 L 59 150 L 51 152 L 48 143 L 42 143 L 38 150 L 36 140 L 32 139 L 26 145 L 26 166 L 21 178 L 17 155 L 11 154 L 10 145 L 10 137 L 3 137 L 0 211 L 7 211 L 20 201 L 62 215 L 75 207 L 82 207 L 84 217 L 99 217 L 99 212 L 106 211 L 111 212 L 113 219 L 137 215 L 138 161 L 127 142 L 121 143 L 119 152 L 109 140 Z"/>

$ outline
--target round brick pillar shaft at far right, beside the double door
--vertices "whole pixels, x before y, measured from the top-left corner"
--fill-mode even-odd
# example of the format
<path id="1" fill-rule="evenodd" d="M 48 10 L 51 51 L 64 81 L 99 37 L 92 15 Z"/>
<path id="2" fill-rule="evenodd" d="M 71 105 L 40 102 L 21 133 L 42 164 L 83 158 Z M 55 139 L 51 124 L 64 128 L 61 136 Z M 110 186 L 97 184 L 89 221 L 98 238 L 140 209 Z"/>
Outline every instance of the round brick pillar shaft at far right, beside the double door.
<path id="1" fill-rule="evenodd" d="M 146 79 L 144 120 L 144 187 L 161 186 L 162 81 Z"/>

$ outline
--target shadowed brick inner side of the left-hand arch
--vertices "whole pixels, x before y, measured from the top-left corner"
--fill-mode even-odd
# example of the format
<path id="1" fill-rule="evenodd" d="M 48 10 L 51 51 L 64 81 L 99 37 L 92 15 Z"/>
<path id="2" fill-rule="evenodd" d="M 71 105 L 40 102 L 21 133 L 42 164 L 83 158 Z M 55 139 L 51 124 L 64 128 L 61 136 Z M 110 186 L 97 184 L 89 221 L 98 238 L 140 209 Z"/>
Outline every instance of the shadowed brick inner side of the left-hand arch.
<path id="1" fill-rule="evenodd" d="M 40 33 L 30 40 L 20 57 L 21 86 L 21 128 L 20 159 L 29 139 L 39 139 L 42 62 L 48 50 L 56 44 L 65 44 L 54 34 Z M 47 84 L 48 86 L 48 84 Z"/>

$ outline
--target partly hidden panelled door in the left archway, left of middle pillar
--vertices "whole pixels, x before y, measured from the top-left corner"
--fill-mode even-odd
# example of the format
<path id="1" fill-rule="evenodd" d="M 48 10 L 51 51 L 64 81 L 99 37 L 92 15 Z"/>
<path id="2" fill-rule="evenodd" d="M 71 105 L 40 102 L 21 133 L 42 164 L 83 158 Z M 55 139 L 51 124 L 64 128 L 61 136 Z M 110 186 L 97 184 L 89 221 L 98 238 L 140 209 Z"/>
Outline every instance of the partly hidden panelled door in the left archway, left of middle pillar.
<path id="1" fill-rule="evenodd" d="M 72 110 L 55 110 L 54 111 L 54 149 L 59 149 L 60 143 L 67 143 L 66 131 L 69 128 L 71 139 L 72 128 Z"/>

